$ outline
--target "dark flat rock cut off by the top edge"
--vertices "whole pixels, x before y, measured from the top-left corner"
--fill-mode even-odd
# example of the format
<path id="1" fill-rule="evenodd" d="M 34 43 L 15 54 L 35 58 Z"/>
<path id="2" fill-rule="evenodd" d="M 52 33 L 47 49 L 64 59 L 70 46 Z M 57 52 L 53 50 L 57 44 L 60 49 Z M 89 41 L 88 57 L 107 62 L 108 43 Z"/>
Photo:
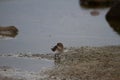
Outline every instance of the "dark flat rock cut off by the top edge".
<path id="1" fill-rule="evenodd" d="M 114 0 L 80 0 L 82 7 L 109 7 Z"/>

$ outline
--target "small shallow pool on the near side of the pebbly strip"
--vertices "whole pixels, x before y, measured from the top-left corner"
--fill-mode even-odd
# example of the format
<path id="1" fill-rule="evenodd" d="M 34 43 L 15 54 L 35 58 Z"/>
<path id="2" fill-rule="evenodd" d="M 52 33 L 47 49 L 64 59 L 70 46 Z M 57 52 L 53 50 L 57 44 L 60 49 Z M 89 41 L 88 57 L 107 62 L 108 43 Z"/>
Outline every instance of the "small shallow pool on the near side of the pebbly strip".
<path id="1" fill-rule="evenodd" d="M 7 66 L 20 71 L 40 72 L 41 70 L 51 68 L 53 65 L 54 61 L 47 59 L 0 57 L 0 67 Z"/>

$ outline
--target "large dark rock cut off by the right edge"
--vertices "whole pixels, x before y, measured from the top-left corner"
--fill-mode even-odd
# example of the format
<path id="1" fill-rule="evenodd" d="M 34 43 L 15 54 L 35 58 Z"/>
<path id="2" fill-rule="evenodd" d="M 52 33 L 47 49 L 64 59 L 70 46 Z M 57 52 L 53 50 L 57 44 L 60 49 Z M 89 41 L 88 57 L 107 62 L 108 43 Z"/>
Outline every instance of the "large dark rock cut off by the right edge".
<path id="1" fill-rule="evenodd" d="M 111 7 L 105 17 L 110 27 L 120 35 L 120 0 Z"/>

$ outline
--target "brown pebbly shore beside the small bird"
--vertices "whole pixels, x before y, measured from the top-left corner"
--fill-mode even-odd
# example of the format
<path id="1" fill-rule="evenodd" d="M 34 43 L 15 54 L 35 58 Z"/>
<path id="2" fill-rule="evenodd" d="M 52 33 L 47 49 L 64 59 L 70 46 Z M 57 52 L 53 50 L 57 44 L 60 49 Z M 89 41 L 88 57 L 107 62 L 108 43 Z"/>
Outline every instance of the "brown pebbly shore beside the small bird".
<path id="1" fill-rule="evenodd" d="M 26 57 L 25 55 L 19 57 Z M 27 57 L 30 57 L 27 55 Z M 54 59 L 53 55 L 31 57 Z M 2 69 L 2 68 L 1 68 Z M 34 80 L 120 80 L 120 46 L 71 47 L 55 60 L 55 67 L 36 74 Z M 3 69 L 7 72 L 6 69 Z M 1 71 L 0 71 L 1 72 Z M 31 73 L 30 73 L 31 74 Z M 29 76 L 33 76 L 31 74 Z M 44 77 L 40 77 L 40 76 Z M 29 80 L 0 75 L 0 80 Z"/>

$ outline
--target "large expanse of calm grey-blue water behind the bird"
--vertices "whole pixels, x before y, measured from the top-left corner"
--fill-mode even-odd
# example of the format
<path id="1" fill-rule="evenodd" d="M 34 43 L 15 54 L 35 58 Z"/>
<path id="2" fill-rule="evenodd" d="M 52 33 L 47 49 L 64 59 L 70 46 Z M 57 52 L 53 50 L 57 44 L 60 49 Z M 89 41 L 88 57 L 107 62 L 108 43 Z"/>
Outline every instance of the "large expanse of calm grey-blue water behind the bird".
<path id="1" fill-rule="evenodd" d="M 120 36 L 105 20 L 109 9 L 83 9 L 78 0 L 0 0 L 0 25 L 14 25 L 14 39 L 0 39 L 0 54 L 51 53 L 57 42 L 66 47 L 119 45 Z"/>

